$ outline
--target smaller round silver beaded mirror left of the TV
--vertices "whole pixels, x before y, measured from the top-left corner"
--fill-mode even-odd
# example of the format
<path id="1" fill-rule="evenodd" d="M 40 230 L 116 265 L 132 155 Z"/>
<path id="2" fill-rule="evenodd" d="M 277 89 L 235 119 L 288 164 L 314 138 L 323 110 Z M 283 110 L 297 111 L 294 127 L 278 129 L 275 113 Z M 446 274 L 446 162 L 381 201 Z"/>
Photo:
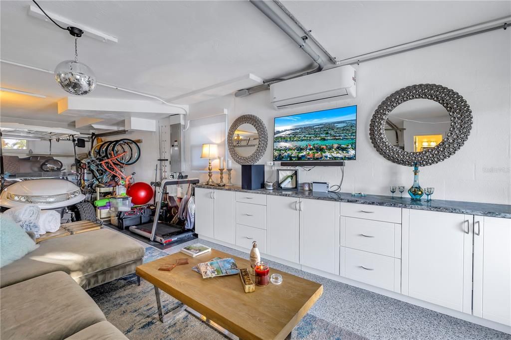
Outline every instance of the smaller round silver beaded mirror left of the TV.
<path id="1" fill-rule="evenodd" d="M 238 164 L 255 164 L 268 147 L 268 131 L 263 121 L 253 114 L 238 117 L 227 134 L 229 154 Z"/>

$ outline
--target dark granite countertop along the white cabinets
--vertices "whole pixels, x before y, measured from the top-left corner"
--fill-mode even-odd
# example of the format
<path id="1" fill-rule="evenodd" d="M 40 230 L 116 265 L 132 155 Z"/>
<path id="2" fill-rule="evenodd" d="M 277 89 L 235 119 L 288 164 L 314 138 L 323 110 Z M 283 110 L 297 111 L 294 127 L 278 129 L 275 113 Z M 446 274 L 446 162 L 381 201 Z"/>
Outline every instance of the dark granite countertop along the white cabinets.
<path id="1" fill-rule="evenodd" d="M 397 207 L 397 208 L 408 208 L 408 209 L 420 209 L 420 210 L 432 210 L 432 211 L 443 211 L 443 212 L 454 212 L 471 215 L 481 216 L 493 216 L 493 217 L 504 217 L 511 218 L 511 205 L 505 204 L 492 204 L 492 203 L 477 203 L 477 202 L 462 202 L 462 201 L 445 201 L 445 200 L 431 200 L 426 202 L 412 201 L 410 198 L 396 198 L 392 199 L 391 196 L 381 195 L 367 195 L 351 196 L 351 193 L 347 192 L 328 192 L 319 193 L 312 191 L 296 191 L 296 190 L 245 190 L 239 185 L 233 186 L 212 186 L 212 185 L 196 185 L 198 188 L 206 189 L 218 189 L 218 190 L 229 190 L 239 192 L 251 192 L 251 193 L 262 193 L 264 195 L 275 195 L 275 196 L 286 196 L 296 198 L 306 198 L 313 200 L 325 200 L 325 201 L 337 201 L 347 203 L 359 203 L 359 204 L 371 204 L 381 205 L 385 207 Z"/>

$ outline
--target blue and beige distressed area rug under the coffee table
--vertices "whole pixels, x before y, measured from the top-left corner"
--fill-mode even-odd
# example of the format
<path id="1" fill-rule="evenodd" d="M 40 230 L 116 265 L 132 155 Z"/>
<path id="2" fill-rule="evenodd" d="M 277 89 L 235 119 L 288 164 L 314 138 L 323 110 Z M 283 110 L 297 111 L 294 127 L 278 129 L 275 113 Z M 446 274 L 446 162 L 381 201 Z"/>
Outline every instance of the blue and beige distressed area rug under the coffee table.
<path id="1" fill-rule="evenodd" d="M 144 262 L 168 254 L 158 249 L 146 248 Z M 225 339 L 226 337 L 186 311 L 162 324 L 158 320 L 153 285 L 142 280 L 136 285 L 136 276 L 128 275 L 87 290 L 87 293 L 105 313 L 106 319 L 128 338 L 136 339 Z M 164 310 L 171 310 L 179 302 L 162 293 Z M 343 339 L 359 340 L 363 337 L 337 325 L 307 314 L 292 332 L 294 339 Z"/>

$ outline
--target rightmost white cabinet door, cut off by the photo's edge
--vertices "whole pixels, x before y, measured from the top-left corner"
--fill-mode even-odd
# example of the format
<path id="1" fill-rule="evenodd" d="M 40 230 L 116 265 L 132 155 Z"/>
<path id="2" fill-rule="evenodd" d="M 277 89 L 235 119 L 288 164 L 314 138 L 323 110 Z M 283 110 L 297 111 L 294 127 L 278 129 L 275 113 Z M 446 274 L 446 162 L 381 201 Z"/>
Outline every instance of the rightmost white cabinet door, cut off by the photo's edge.
<path id="1" fill-rule="evenodd" d="M 511 326 L 511 220 L 474 216 L 474 315 Z"/>

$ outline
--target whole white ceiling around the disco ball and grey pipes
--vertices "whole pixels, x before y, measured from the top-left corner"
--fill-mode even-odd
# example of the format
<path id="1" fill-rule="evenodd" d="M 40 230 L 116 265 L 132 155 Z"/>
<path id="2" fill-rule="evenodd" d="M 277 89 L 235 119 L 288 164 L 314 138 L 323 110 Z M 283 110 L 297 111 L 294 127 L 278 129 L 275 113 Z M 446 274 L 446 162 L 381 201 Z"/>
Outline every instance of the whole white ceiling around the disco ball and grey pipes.
<path id="1" fill-rule="evenodd" d="M 0 57 L 54 69 L 60 61 L 73 58 L 73 37 L 50 22 L 29 16 L 31 4 L 0 2 Z M 79 60 L 95 71 L 98 81 L 164 99 L 249 72 L 269 79 L 312 65 L 310 58 L 248 1 L 41 0 L 39 4 L 44 10 L 119 39 L 118 43 L 103 43 L 89 37 L 78 40 Z M 511 13 L 509 1 L 284 4 L 338 59 Z M 56 101 L 66 93 L 57 87 L 51 74 L 6 63 L 1 67 L 2 87 L 48 95 L 47 99 L 27 97 L 16 101 L 3 95 L 0 107 L 3 116 L 73 121 L 74 117 L 56 113 Z M 88 96 L 144 99 L 101 86 Z"/>

